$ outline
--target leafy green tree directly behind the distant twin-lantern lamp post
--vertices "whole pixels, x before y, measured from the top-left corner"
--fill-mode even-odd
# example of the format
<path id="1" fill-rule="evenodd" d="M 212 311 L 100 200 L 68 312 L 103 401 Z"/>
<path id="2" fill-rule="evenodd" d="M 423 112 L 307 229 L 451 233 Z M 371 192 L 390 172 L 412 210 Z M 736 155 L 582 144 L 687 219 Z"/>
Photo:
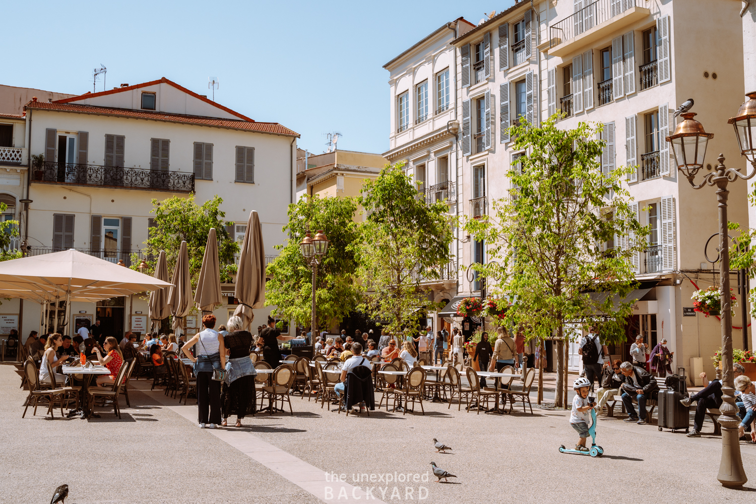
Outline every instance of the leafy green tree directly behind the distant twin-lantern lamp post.
<path id="1" fill-rule="evenodd" d="M 268 264 L 265 305 L 274 305 L 273 313 L 304 326 L 311 323 L 312 270 L 302 257 L 299 243 L 308 230 L 324 230 L 330 245 L 321 264 L 315 284 L 318 327 L 339 323 L 360 301 L 361 286 L 355 279 L 357 259 L 352 243 L 359 241 L 360 230 L 355 222 L 358 206 L 355 198 L 312 196 L 289 206 L 289 223 L 283 231 L 287 243 L 277 246 L 280 255 Z"/>

